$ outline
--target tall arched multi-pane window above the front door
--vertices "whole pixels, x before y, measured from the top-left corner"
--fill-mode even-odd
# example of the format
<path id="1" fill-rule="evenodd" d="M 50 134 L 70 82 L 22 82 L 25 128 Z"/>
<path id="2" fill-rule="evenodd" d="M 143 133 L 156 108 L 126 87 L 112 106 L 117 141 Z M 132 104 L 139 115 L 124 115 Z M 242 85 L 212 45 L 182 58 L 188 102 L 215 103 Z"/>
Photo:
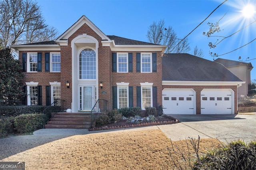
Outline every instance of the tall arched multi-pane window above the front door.
<path id="1" fill-rule="evenodd" d="M 96 53 L 83 49 L 79 55 L 79 79 L 96 79 Z"/>

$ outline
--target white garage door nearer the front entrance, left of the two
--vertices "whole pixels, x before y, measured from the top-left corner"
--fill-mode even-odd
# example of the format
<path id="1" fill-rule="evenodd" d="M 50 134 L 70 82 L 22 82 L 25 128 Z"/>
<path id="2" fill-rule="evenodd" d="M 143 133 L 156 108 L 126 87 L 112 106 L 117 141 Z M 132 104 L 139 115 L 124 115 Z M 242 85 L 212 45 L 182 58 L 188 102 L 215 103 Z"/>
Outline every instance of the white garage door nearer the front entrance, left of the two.
<path id="1" fill-rule="evenodd" d="M 164 89 L 162 91 L 165 114 L 195 114 L 195 91 L 193 89 Z"/>

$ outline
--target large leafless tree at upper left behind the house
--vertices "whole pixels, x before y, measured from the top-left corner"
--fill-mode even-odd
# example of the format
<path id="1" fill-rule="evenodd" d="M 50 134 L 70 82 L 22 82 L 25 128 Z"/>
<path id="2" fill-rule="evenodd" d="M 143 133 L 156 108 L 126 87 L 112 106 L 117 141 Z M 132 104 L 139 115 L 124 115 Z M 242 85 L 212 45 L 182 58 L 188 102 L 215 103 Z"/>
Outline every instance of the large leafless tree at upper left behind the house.
<path id="1" fill-rule="evenodd" d="M 0 0 L 0 42 L 9 45 L 49 41 L 58 31 L 45 24 L 33 0 Z"/>

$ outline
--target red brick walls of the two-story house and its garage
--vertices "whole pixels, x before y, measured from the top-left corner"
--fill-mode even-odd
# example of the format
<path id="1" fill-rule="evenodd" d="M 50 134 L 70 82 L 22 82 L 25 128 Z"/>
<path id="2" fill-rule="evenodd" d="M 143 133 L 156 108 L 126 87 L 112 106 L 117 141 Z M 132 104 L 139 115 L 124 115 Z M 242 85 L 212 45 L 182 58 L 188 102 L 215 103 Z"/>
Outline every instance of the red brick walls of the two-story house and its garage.
<path id="1" fill-rule="evenodd" d="M 38 85 L 42 86 L 42 105 L 46 105 L 46 86 L 49 86 L 49 82 L 60 82 L 61 83 L 61 99 L 64 100 L 64 108 L 68 109 L 74 105 L 74 101 L 72 101 L 72 89 L 78 88 L 74 83 L 77 81 L 76 77 L 72 77 L 74 73 L 72 73 L 72 55 L 73 57 L 77 57 L 78 53 L 72 54 L 72 40 L 77 38 L 81 35 L 88 35 L 96 39 L 98 48 L 97 48 L 97 55 L 98 55 L 98 83 L 103 83 L 103 88 L 101 89 L 98 84 L 98 99 L 105 99 L 108 101 L 108 110 L 111 110 L 113 107 L 112 101 L 112 87 L 117 86 L 116 83 L 129 83 L 129 87 L 133 87 L 133 106 L 137 106 L 137 93 L 136 87 L 141 86 L 140 83 L 153 83 L 153 87 L 157 87 L 157 103 L 162 105 L 162 90 L 164 88 L 190 88 L 196 91 L 196 114 L 200 114 L 200 92 L 202 89 L 232 89 L 234 91 L 234 112 L 237 114 L 237 87 L 236 86 L 190 86 L 190 85 L 162 85 L 162 51 L 159 50 L 152 50 L 150 51 L 150 47 L 145 46 L 145 50 L 111 50 L 111 46 L 103 46 L 102 44 L 102 37 L 97 33 L 97 31 L 93 30 L 87 24 L 83 24 L 80 28 L 75 30 L 72 35 L 68 37 L 68 44 L 67 45 L 60 45 L 60 50 L 44 50 L 44 51 L 37 51 L 36 47 L 32 47 L 31 49 L 35 49 L 34 51 L 19 51 L 19 59 L 22 62 L 22 53 L 28 52 L 37 52 L 42 53 L 42 71 L 34 72 L 34 73 L 25 73 L 25 78 L 23 80 L 24 85 L 26 82 L 34 81 L 38 82 Z M 88 46 L 84 45 L 85 47 Z M 29 45 L 28 45 L 29 46 Z M 95 45 L 96 46 L 96 45 Z M 131 49 L 132 47 L 130 47 Z M 79 50 L 82 49 L 81 45 L 79 46 Z M 73 49 L 74 50 L 74 49 Z M 61 72 L 54 73 L 54 72 L 46 72 L 45 71 L 45 53 L 49 52 L 60 52 L 61 55 Z M 76 51 L 77 52 L 77 51 Z M 112 53 L 132 53 L 132 72 L 128 73 L 118 73 L 112 72 Z M 140 73 L 136 72 L 136 53 L 156 53 L 157 60 L 156 60 L 156 67 L 157 71 L 152 73 Z M 74 61 L 73 61 L 74 62 Z M 76 67 L 77 64 L 74 63 Z M 77 66 L 78 67 L 78 66 Z M 72 82 L 72 80 L 74 80 Z M 70 83 L 70 88 L 66 87 L 66 81 Z M 97 86 L 97 85 L 96 85 Z M 73 89 L 74 90 L 74 89 Z M 102 93 L 104 92 L 104 93 Z M 75 97 L 78 97 L 79 94 L 73 94 Z M 74 99 L 73 96 L 73 99 Z M 73 102 L 73 104 L 72 104 Z M 75 103 L 77 105 L 77 103 Z M 76 112 L 77 110 L 74 110 Z"/>

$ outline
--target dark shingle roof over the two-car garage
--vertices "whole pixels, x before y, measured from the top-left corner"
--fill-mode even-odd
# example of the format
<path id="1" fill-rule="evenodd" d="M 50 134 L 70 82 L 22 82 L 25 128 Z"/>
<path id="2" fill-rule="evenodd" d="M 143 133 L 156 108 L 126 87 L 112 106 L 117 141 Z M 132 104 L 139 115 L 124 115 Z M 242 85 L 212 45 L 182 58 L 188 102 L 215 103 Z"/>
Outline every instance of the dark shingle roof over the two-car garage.
<path id="1" fill-rule="evenodd" d="M 224 65 L 186 53 L 162 57 L 163 81 L 241 81 Z"/>

